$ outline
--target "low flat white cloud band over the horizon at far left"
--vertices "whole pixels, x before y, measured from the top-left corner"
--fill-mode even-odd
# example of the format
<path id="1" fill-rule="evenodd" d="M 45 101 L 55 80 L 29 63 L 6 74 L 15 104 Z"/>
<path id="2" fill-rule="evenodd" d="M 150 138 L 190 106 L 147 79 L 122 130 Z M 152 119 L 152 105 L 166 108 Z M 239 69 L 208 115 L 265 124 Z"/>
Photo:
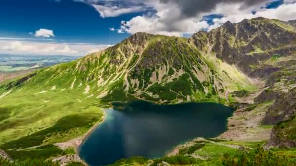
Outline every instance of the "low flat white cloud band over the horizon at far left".
<path id="1" fill-rule="evenodd" d="M 23 55 L 86 55 L 111 45 L 89 43 L 56 43 L 27 40 L 1 40 L 0 53 Z"/>

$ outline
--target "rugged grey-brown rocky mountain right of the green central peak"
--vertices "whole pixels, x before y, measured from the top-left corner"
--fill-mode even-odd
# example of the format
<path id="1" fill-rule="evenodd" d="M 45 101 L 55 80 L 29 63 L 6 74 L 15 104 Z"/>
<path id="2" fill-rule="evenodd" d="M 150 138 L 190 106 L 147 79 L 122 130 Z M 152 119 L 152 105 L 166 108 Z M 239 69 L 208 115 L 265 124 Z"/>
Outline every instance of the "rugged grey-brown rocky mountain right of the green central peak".
<path id="1" fill-rule="evenodd" d="M 195 33 L 190 40 L 199 49 L 212 52 L 228 64 L 235 64 L 246 74 L 266 78 L 275 69 L 254 71 L 254 67 L 274 54 L 288 55 L 296 50 L 293 45 L 296 28 L 292 24 L 262 17 L 245 19 L 234 24 L 226 22 L 209 33 Z"/>

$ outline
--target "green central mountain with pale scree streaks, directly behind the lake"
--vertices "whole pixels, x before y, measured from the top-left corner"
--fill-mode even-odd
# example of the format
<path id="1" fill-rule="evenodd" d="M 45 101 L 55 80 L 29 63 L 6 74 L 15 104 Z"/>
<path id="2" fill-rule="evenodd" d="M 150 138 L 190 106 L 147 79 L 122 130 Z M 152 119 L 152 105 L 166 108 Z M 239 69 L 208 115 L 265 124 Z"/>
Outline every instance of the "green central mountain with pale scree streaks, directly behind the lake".
<path id="1" fill-rule="evenodd" d="M 85 89 L 81 93 L 108 101 L 157 102 L 220 102 L 228 91 L 251 87 L 235 66 L 204 54 L 190 39 L 147 33 L 133 34 L 77 61 L 38 70 L 25 84 Z"/>

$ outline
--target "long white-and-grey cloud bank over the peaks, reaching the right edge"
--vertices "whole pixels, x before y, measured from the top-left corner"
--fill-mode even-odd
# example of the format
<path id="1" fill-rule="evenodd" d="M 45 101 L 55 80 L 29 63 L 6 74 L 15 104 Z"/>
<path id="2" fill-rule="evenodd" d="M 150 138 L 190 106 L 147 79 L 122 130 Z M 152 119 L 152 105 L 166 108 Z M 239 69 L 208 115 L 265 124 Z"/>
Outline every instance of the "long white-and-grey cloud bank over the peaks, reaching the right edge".
<path id="1" fill-rule="evenodd" d="M 221 26 L 226 21 L 240 22 L 243 19 L 255 17 L 276 18 L 284 21 L 296 19 L 296 0 L 285 0 L 284 4 L 276 9 L 265 9 L 265 2 L 246 6 L 244 2 L 219 3 L 208 12 L 199 13 L 195 17 L 184 17 L 180 6 L 170 3 L 160 3 L 159 0 L 145 1 L 146 6 L 153 7 L 156 13 L 151 16 L 136 16 L 127 21 L 121 21 L 118 33 L 146 32 L 153 34 L 177 35 L 195 33 L 202 29 L 213 29 Z M 169 7 L 167 7 L 169 5 Z M 256 14 L 252 14 L 256 11 Z M 222 18 L 215 18 L 214 25 L 201 21 L 203 16 L 221 14 Z"/>

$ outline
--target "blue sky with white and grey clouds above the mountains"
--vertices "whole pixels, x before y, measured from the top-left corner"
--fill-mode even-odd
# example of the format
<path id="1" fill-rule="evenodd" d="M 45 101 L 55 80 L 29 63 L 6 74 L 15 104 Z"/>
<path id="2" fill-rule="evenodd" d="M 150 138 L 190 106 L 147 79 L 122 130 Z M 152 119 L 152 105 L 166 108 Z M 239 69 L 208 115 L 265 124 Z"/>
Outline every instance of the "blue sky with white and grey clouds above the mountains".
<path id="1" fill-rule="evenodd" d="M 0 54 L 83 56 L 137 32 L 189 37 L 226 21 L 296 19 L 296 0 L 0 0 Z"/>

